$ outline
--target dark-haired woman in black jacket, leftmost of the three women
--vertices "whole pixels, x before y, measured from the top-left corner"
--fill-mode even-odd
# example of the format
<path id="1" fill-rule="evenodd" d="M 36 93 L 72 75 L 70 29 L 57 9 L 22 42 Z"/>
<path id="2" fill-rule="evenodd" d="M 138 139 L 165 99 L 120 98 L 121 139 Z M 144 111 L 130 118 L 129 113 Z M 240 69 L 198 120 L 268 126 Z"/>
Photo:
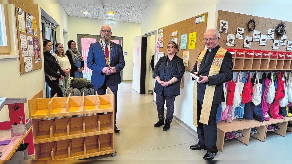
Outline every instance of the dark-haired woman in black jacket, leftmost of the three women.
<path id="1" fill-rule="evenodd" d="M 48 86 L 51 87 L 51 97 L 56 93 L 58 97 L 63 97 L 63 91 L 59 87 L 59 79 L 63 80 L 65 73 L 57 63 L 55 57 L 50 53 L 52 51 L 52 45 L 51 40 L 43 40 L 45 80 Z"/>

